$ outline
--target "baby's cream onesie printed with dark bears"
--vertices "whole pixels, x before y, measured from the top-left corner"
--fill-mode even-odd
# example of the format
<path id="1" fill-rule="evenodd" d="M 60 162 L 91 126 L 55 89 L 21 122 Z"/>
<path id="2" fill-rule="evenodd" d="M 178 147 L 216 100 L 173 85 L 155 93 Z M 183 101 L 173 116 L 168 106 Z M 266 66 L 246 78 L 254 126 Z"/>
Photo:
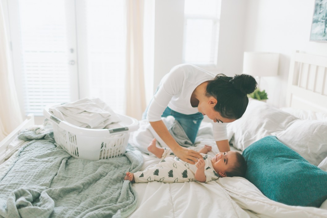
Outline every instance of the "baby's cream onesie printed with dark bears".
<path id="1" fill-rule="evenodd" d="M 189 164 L 176 157 L 172 150 L 164 148 L 164 152 L 160 163 L 155 167 L 151 167 L 145 171 L 134 173 L 134 180 L 139 182 L 192 182 L 196 181 L 195 171 L 197 167 L 195 164 Z M 209 182 L 219 178 L 218 173 L 215 172 L 211 158 L 208 154 L 201 154 L 205 163 L 204 174 L 206 181 Z"/>

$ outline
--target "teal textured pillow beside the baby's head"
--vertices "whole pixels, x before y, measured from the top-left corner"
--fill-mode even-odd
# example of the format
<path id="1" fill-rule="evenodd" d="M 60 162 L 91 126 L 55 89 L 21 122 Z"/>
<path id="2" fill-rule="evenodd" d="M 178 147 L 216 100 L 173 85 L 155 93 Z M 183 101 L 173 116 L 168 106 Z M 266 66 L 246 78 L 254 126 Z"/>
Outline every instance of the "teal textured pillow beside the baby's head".
<path id="1" fill-rule="evenodd" d="M 243 152 L 246 179 L 269 199 L 293 206 L 320 207 L 327 198 L 327 172 L 266 136 Z"/>

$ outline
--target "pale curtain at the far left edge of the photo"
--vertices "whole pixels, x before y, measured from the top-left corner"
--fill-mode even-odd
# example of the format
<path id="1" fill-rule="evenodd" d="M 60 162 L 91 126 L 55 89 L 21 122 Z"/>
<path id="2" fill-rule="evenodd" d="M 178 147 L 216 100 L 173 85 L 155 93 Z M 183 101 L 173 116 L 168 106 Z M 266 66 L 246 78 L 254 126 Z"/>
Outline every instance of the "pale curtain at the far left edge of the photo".
<path id="1" fill-rule="evenodd" d="M 16 88 L 4 20 L 4 8 L 0 1 L 0 140 L 23 121 Z"/>

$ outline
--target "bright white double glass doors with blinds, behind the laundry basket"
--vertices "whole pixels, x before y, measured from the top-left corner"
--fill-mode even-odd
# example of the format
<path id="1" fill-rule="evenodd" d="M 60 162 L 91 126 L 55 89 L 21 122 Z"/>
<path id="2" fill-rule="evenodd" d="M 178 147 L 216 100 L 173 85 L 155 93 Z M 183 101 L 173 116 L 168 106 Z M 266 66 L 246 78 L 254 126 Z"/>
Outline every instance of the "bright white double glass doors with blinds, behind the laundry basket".
<path id="1" fill-rule="evenodd" d="M 8 1 L 17 92 L 25 114 L 97 97 L 124 113 L 125 4 L 107 0 Z"/>

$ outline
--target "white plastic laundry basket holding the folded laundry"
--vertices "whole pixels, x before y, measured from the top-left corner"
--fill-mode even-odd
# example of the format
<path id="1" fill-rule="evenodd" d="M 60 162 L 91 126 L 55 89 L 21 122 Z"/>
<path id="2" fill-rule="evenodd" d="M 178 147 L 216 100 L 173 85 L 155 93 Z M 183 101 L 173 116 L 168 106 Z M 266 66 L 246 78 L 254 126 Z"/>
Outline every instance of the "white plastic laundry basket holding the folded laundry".
<path id="1" fill-rule="evenodd" d="M 43 109 L 43 114 L 53 123 L 55 141 L 70 155 L 79 159 L 99 160 L 117 157 L 125 153 L 129 134 L 139 128 L 137 119 L 120 115 L 123 125 L 116 129 L 87 129 L 77 127 L 60 120 L 49 112 L 49 107 Z"/>

